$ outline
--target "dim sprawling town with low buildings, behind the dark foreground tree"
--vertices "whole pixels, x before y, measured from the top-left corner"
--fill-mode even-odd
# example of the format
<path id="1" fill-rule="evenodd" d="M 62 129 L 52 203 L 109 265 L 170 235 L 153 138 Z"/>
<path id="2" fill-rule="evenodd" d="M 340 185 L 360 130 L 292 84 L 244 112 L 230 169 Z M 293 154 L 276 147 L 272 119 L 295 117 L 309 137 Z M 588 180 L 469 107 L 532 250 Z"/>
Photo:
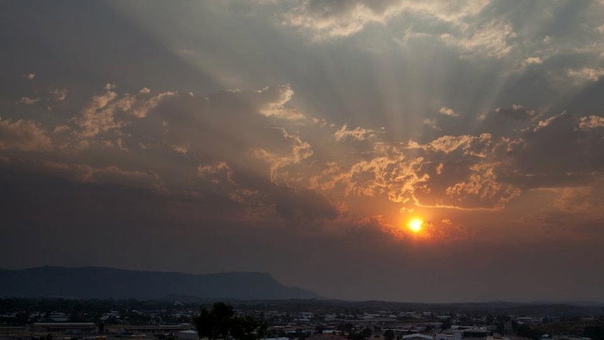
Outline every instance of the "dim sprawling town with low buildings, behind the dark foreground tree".
<path id="1" fill-rule="evenodd" d="M 235 315 L 266 324 L 264 334 L 254 334 L 254 339 L 604 339 L 604 316 L 599 307 L 505 302 L 231 302 Z M 200 305 L 212 308 L 212 301 L 0 299 L 0 340 L 198 340 L 205 337 L 195 329 Z"/>

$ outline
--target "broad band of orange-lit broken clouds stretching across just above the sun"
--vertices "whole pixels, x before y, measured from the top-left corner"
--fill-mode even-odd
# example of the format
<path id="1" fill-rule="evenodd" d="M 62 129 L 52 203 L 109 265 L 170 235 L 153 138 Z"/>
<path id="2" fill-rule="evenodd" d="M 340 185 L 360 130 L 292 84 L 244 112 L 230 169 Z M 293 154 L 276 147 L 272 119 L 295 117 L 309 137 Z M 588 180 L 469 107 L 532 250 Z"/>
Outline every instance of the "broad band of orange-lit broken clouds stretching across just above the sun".
<path id="1" fill-rule="evenodd" d="M 287 187 L 288 192 L 312 190 L 340 212 L 362 197 L 385 199 L 401 211 L 414 207 L 500 210 L 521 196 L 523 189 L 568 185 L 574 175 L 561 176 L 561 172 L 599 173 L 602 163 L 593 161 L 600 159 L 598 148 L 604 148 L 601 136 L 598 139 L 604 121 L 596 115 L 547 117 L 513 104 L 483 114 L 473 134 L 447 135 L 446 130 L 437 130 L 441 135 L 427 142 L 392 144 L 387 128 L 350 129 L 347 124 L 337 128 L 325 119 L 308 118 L 289 107 L 293 95 L 289 85 L 205 95 L 152 95 L 149 88 L 134 95 L 107 90 L 92 97 L 77 116 L 55 125 L 56 137 L 46 136 L 41 124 L 32 121 L 5 121 L 4 125 L 22 134 L 27 129 L 19 126 L 27 125 L 32 131 L 32 142 L 22 142 L 21 149 L 49 150 L 51 138 L 57 138 L 61 150 L 82 152 L 97 145 L 121 152 L 165 152 L 160 158 L 179 156 L 172 162 L 189 167 L 184 182 L 203 179 L 195 184 L 199 185 L 196 190 L 203 192 L 204 182 L 212 184 L 212 190 L 225 199 L 254 206 L 263 214 L 270 211 L 268 197 L 274 198 L 277 191 L 264 191 L 254 184 L 258 178 L 270 186 Z M 298 116 L 292 119 L 287 112 Z M 439 113 L 460 116 L 444 106 Z M 315 124 L 301 123 L 306 121 Z M 338 142 L 334 147 L 345 150 L 345 157 L 334 158 L 341 154 L 326 152 L 321 144 L 326 137 Z M 545 149 L 561 140 L 571 144 L 558 146 L 555 152 Z M 586 145 L 584 156 L 572 152 L 577 143 Z M 549 157 L 546 162 L 542 161 L 545 156 Z M 174 182 L 169 171 L 158 164 L 145 166 L 158 174 L 157 183 L 174 185 L 169 184 Z M 246 194 L 251 192 L 254 195 Z M 282 205 L 275 207 L 281 207 L 287 218 L 301 218 L 284 212 L 289 208 Z"/>

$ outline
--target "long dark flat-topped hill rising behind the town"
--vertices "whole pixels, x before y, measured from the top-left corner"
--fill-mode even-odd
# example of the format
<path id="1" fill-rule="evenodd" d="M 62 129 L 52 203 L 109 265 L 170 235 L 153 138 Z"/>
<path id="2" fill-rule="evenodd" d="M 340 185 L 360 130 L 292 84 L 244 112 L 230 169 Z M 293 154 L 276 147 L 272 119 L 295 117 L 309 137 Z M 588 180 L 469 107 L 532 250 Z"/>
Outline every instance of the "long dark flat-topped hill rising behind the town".
<path id="1" fill-rule="evenodd" d="M 0 297 L 160 299 L 169 295 L 205 299 L 322 299 L 309 290 L 283 285 L 269 273 L 192 275 L 55 266 L 0 269 Z"/>

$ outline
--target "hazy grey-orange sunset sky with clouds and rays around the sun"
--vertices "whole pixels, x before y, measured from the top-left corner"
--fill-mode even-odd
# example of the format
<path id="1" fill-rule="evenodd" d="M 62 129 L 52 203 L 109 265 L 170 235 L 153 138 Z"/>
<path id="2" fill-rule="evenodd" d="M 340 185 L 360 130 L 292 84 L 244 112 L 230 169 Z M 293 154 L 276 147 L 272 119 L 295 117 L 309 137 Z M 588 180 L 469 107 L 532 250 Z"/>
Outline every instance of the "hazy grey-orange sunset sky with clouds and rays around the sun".
<path id="1" fill-rule="evenodd" d="M 602 0 L 1 1 L 0 43 L 2 268 L 604 301 Z"/>

